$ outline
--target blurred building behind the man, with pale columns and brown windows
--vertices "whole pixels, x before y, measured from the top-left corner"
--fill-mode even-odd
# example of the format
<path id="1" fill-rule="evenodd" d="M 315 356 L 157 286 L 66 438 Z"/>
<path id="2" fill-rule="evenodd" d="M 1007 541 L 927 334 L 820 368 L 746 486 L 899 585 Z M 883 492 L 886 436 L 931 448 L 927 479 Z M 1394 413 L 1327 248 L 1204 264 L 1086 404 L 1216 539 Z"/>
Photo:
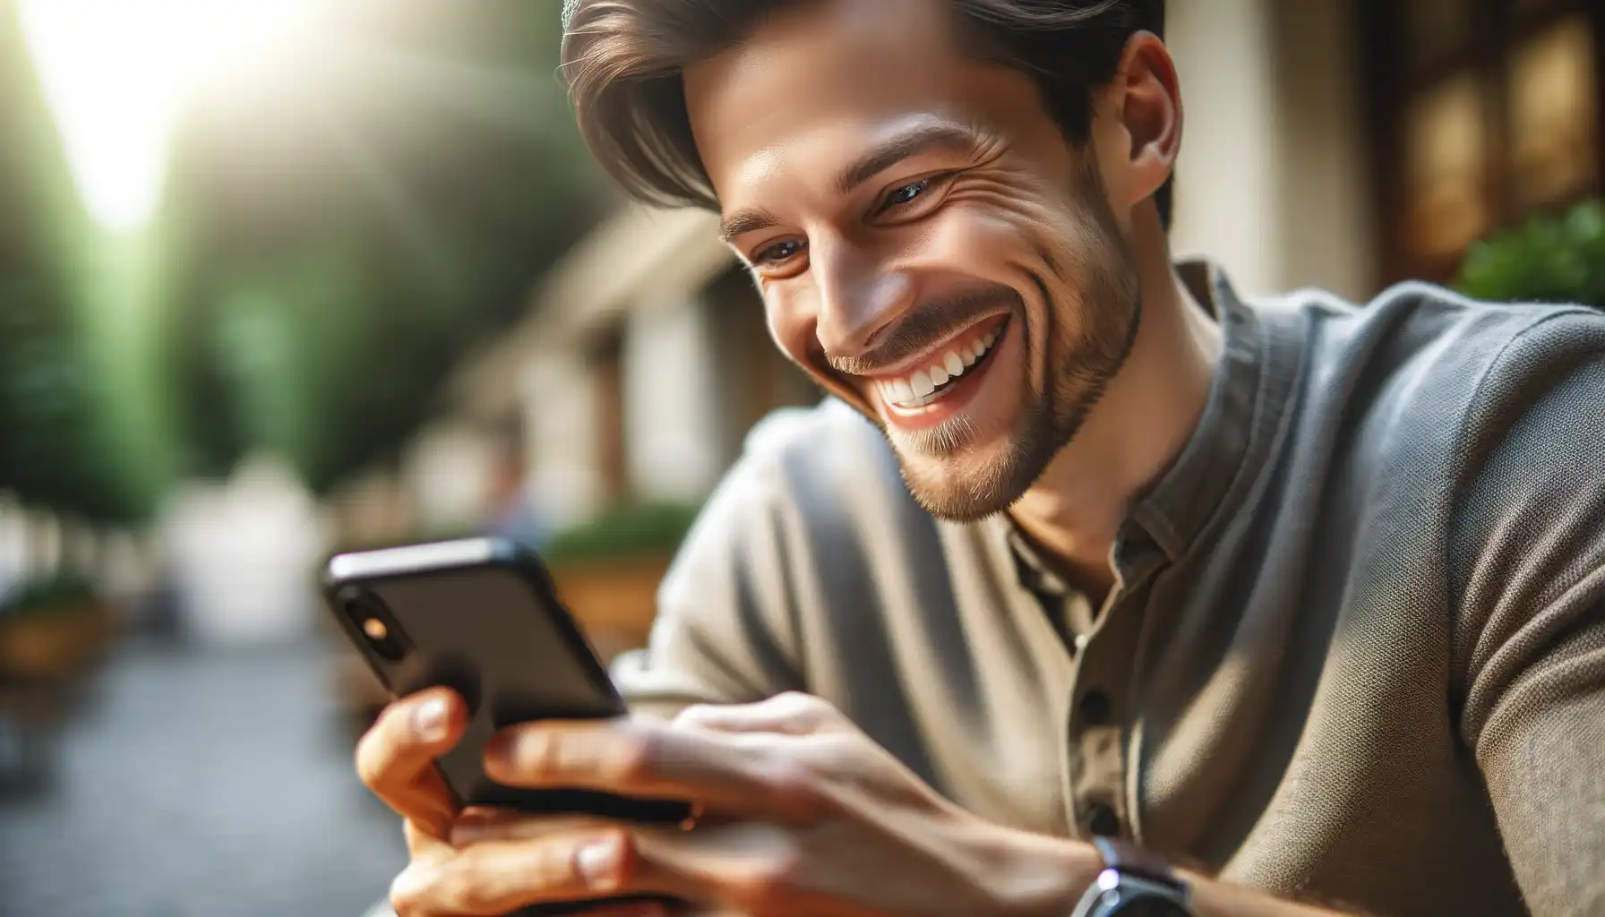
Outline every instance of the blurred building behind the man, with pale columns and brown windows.
<path id="1" fill-rule="evenodd" d="M 1366 299 L 1444 281 L 1465 247 L 1600 190 L 1602 34 L 1587 0 L 1180 0 L 1178 254 L 1250 294 Z M 388 504 L 482 512 L 515 445 L 554 524 L 698 499 L 772 408 L 817 397 L 698 212 L 624 209 L 469 360 Z M 384 516 L 376 509 L 376 517 Z"/>

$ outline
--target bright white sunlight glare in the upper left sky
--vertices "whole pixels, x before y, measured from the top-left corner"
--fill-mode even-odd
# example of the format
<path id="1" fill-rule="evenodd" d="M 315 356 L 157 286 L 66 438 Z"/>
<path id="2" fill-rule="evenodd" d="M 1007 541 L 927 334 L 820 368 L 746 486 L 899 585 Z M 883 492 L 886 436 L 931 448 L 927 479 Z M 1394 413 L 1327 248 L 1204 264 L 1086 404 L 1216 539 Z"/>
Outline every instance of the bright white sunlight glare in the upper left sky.
<path id="1" fill-rule="evenodd" d="M 180 108 L 279 45 L 316 0 L 21 0 L 22 32 L 79 194 L 111 230 L 162 198 Z"/>

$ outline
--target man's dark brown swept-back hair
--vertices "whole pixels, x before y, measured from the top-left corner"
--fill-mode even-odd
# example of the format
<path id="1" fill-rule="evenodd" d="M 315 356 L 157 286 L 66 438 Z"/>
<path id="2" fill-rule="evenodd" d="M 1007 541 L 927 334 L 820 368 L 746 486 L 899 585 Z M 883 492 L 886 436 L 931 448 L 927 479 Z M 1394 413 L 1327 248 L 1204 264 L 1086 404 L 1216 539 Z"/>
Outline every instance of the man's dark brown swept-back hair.
<path id="1" fill-rule="evenodd" d="M 799 0 L 568 0 L 563 75 L 579 132 L 626 191 L 717 209 L 685 114 L 681 71 L 737 45 Z M 1064 138 L 1085 145 L 1093 90 L 1127 40 L 1164 35 L 1164 0 L 952 0 L 968 50 L 1030 75 Z M 1156 194 L 1170 226 L 1170 181 Z"/>

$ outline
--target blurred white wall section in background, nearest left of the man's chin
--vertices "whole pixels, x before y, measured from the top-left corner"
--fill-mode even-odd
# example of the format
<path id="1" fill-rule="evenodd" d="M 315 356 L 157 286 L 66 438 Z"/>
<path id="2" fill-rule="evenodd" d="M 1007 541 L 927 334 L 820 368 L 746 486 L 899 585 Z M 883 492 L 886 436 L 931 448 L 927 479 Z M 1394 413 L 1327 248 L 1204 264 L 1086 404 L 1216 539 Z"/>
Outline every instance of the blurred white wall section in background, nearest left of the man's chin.
<path id="1" fill-rule="evenodd" d="M 637 495 L 701 499 L 719 463 L 717 358 L 695 300 L 637 308 L 624 326 L 624 446 Z"/>

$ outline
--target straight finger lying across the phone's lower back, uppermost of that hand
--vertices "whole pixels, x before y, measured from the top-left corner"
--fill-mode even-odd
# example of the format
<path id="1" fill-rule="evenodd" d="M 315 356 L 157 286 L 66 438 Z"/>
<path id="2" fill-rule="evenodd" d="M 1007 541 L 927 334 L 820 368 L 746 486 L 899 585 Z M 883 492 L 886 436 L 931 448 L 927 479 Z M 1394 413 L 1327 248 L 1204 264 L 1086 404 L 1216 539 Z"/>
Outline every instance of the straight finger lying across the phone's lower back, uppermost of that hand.
<path id="1" fill-rule="evenodd" d="M 722 814 L 812 817 L 801 750 L 774 736 L 721 734 L 652 721 L 530 723 L 490 744 L 491 779 L 531 789 L 589 789 L 637 798 L 693 800 Z"/>

